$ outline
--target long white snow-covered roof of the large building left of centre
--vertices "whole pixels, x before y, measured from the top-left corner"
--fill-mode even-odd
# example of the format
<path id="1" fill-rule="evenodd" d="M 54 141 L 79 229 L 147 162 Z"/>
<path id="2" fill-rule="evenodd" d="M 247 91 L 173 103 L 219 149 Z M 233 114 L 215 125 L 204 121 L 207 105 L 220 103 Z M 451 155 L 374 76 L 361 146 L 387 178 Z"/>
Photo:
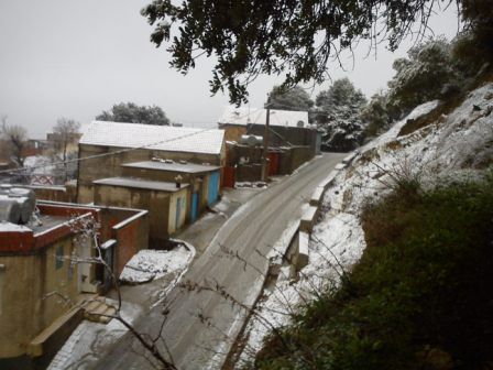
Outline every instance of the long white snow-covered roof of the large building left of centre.
<path id="1" fill-rule="evenodd" d="M 118 148 L 149 148 L 168 152 L 219 154 L 223 130 L 94 121 L 79 143 Z"/>

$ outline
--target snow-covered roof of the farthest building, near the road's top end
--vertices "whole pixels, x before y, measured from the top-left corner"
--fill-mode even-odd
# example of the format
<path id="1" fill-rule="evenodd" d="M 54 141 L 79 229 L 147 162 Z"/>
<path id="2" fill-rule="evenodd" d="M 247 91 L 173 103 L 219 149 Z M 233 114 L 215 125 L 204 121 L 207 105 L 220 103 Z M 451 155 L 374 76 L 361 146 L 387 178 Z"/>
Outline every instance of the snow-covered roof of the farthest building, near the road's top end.
<path id="1" fill-rule="evenodd" d="M 218 122 L 230 124 L 265 124 L 266 111 L 266 109 L 262 108 L 237 108 L 234 106 L 228 106 Z M 303 126 L 298 122 L 303 122 Z M 284 127 L 307 127 L 309 124 L 308 112 L 271 109 L 270 124 Z"/>

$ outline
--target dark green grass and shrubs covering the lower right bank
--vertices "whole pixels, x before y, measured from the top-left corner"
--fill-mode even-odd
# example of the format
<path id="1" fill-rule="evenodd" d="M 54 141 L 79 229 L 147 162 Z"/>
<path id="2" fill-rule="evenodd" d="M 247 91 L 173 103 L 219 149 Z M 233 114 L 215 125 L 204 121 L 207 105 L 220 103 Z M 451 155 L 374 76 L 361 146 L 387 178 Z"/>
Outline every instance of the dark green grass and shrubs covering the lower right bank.
<path id="1" fill-rule="evenodd" d="M 490 175 L 368 205 L 359 264 L 284 329 L 283 341 L 272 336 L 255 368 L 486 369 L 492 185 Z"/>

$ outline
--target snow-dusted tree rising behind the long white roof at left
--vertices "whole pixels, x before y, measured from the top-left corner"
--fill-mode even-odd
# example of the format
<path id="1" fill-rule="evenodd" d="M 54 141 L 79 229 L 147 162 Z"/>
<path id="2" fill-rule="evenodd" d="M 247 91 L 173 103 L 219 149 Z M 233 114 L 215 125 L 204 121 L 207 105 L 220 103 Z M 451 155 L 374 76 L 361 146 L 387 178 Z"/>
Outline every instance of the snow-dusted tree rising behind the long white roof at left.
<path id="1" fill-rule="evenodd" d="M 169 124 L 169 120 L 161 107 L 138 106 L 134 102 L 120 102 L 114 105 L 110 111 L 103 111 L 96 119 L 99 121 L 125 123 Z"/>

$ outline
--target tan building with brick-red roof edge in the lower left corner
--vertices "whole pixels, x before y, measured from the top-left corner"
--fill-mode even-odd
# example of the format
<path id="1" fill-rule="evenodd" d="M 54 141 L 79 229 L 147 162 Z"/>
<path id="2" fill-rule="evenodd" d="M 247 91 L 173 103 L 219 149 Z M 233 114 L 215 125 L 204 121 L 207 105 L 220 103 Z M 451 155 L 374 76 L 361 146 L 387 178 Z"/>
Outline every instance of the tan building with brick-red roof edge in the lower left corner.
<path id="1" fill-rule="evenodd" d="M 110 274 L 92 263 L 91 238 L 78 226 L 99 225 L 102 255 L 119 274 L 146 248 L 147 213 L 136 209 L 37 204 L 26 225 L 0 221 L 0 368 L 43 368 L 83 319 L 85 294 L 110 287 Z"/>

